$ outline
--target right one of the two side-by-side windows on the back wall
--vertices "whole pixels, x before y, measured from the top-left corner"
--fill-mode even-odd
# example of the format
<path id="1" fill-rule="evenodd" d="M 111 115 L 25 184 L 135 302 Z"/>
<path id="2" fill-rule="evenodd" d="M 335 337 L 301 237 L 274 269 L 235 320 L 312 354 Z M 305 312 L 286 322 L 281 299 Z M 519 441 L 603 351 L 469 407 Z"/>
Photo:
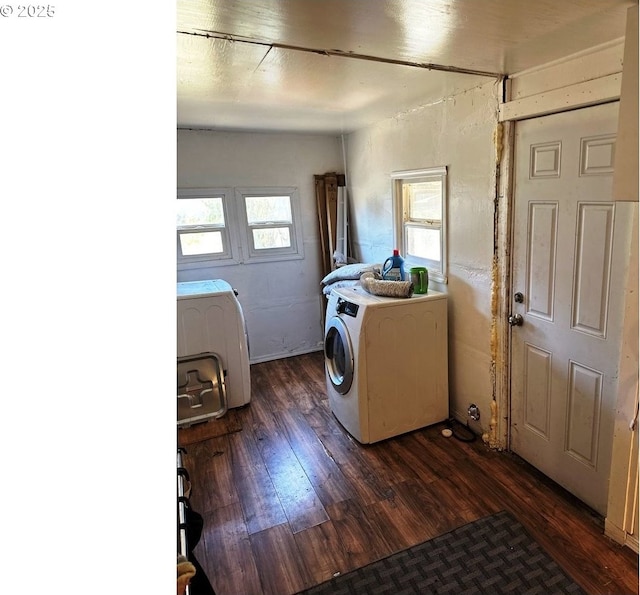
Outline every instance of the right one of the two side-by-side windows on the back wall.
<path id="1" fill-rule="evenodd" d="M 245 262 L 302 257 L 295 188 L 236 188 Z"/>

